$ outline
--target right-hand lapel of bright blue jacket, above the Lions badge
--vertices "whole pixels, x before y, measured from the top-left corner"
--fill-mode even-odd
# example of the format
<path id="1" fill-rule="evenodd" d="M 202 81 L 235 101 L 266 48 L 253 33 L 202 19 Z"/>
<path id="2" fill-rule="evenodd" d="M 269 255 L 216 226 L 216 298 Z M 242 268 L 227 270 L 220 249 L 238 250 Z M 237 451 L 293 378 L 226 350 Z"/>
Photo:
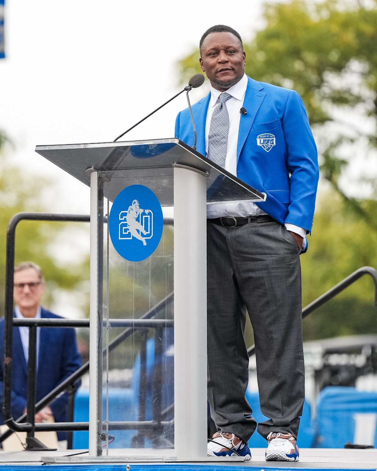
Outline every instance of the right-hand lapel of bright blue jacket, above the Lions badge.
<path id="1" fill-rule="evenodd" d="M 255 115 L 257 114 L 259 107 L 262 105 L 262 101 L 266 94 L 261 91 L 263 86 L 260 82 L 257 82 L 248 77 L 247 88 L 244 99 L 244 108 L 247 110 L 246 115 L 242 115 L 239 122 L 238 130 L 238 143 L 237 143 L 237 162 L 239 154 L 241 153 L 242 147 L 245 144 L 247 135 L 253 125 Z"/>

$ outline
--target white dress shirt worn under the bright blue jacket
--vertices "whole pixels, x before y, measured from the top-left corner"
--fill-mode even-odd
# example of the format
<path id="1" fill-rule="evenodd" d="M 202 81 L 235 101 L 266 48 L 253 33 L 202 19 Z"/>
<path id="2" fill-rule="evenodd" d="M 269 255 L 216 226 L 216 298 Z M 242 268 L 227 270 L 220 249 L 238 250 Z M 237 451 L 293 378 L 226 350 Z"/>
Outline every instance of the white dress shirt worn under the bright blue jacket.
<path id="1" fill-rule="evenodd" d="M 225 157 L 225 170 L 229 171 L 232 175 L 237 177 L 237 143 L 238 143 L 238 129 L 241 114 L 239 112 L 244 104 L 244 98 L 247 88 L 247 75 L 244 74 L 242 79 L 235 85 L 226 90 L 231 97 L 225 102 L 229 114 L 229 134 L 227 143 L 227 154 Z M 211 126 L 211 118 L 215 106 L 220 103 L 219 97 L 222 92 L 211 87 L 211 97 L 208 104 L 207 117 L 205 120 L 205 154 L 208 152 L 208 134 Z M 258 188 L 257 188 L 258 189 Z M 220 218 L 221 216 L 259 216 L 267 214 L 262 211 L 255 203 L 220 203 L 220 204 L 207 204 L 207 218 Z M 304 238 L 306 230 L 302 227 L 295 226 L 294 224 L 285 224 L 287 230 L 295 232 Z M 303 249 L 305 247 L 303 246 Z"/>

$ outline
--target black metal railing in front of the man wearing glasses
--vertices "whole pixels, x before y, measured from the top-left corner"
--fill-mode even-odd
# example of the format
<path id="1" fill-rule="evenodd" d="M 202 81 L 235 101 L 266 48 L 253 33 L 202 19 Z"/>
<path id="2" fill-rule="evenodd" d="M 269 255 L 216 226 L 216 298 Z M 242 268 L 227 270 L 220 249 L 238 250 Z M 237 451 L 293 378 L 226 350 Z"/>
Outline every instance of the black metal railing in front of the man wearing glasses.
<path id="1" fill-rule="evenodd" d="M 89 327 L 89 319 L 20 319 L 13 317 L 13 273 L 15 262 L 15 234 L 17 224 L 21 220 L 45 220 L 45 221 L 61 221 L 61 222 L 90 222 L 89 215 L 70 215 L 70 214 L 51 214 L 51 213 L 18 213 L 9 222 L 7 231 L 7 259 L 6 259 L 6 295 L 5 295 L 5 313 L 4 313 L 4 370 L 3 370 L 3 418 L 8 425 L 9 430 L 0 435 L 0 443 L 7 439 L 15 431 L 26 431 L 26 447 L 28 449 L 38 449 L 44 447 L 38 440 L 34 438 L 36 431 L 67 431 L 68 445 L 72 447 L 72 431 L 89 430 L 89 422 L 73 422 L 74 411 L 74 390 L 75 383 L 80 380 L 83 374 L 89 370 L 89 361 L 82 365 L 74 374 L 60 383 L 48 395 L 35 403 L 36 388 L 36 329 L 37 327 Z M 164 219 L 165 224 L 172 224 L 172 219 Z M 155 437 L 161 433 L 164 427 L 172 425 L 173 421 L 164 421 L 164 417 L 170 412 L 170 408 L 161 411 L 161 379 L 162 369 L 161 363 L 156 358 L 162 354 L 163 329 L 171 328 L 172 320 L 155 319 L 162 310 L 168 308 L 173 301 L 173 293 L 170 293 L 156 306 L 150 309 L 139 319 L 111 319 L 104 321 L 104 325 L 112 327 L 127 327 L 113 341 L 111 341 L 107 349 L 103 349 L 103 355 L 110 353 L 123 341 L 127 340 L 136 331 L 146 332 L 146 329 L 155 329 L 155 364 L 153 370 L 153 414 L 152 420 L 145 420 L 145 402 L 146 398 L 141 392 L 146 394 L 146 342 L 147 335 L 142 335 L 143 344 L 140 351 L 140 379 L 139 379 L 139 421 L 127 422 L 104 422 L 108 430 L 138 430 L 141 435 L 145 432 L 154 431 Z M 11 387 L 12 387 L 12 344 L 13 344 L 13 327 L 27 326 L 29 327 L 29 361 L 28 361 L 28 384 L 27 384 L 27 413 L 23 414 L 17 420 L 14 420 L 11 413 Z M 70 422 L 55 423 L 35 423 L 35 414 L 43 407 L 50 404 L 54 399 L 69 392 L 70 402 L 68 403 L 68 420 Z M 25 422 L 26 420 L 26 422 Z"/>

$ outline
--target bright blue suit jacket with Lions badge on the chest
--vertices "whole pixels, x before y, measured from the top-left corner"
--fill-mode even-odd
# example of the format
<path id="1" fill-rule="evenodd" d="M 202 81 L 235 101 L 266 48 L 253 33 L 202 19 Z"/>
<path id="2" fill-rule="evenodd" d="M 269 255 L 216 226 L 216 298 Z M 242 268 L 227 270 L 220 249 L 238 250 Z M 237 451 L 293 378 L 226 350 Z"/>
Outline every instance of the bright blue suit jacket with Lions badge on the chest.
<path id="1" fill-rule="evenodd" d="M 197 128 L 197 151 L 205 155 L 205 119 L 210 94 L 192 106 Z M 311 134 L 301 97 L 269 83 L 248 77 L 237 145 L 237 177 L 266 193 L 266 201 L 256 203 L 281 224 L 303 227 L 311 233 L 319 179 L 317 148 Z M 261 135 L 275 145 L 265 150 L 258 145 Z M 188 108 L 175 123 L 175 137 L 188 146 L 194 144 Z M 263 138 L 262 138 L 263 139 Z"/>

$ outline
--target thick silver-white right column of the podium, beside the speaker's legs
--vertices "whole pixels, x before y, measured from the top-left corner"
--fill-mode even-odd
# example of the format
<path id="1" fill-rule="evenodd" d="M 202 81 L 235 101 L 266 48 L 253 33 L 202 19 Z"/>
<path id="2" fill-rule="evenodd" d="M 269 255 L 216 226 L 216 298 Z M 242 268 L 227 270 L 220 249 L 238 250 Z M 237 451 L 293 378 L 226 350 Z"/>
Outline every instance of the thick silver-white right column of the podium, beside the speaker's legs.
<path id="1" fill-rule="evenodd" d="M 207 241 L 203 172 L 174 168 L 174 454 L 207 455 Z"/>

